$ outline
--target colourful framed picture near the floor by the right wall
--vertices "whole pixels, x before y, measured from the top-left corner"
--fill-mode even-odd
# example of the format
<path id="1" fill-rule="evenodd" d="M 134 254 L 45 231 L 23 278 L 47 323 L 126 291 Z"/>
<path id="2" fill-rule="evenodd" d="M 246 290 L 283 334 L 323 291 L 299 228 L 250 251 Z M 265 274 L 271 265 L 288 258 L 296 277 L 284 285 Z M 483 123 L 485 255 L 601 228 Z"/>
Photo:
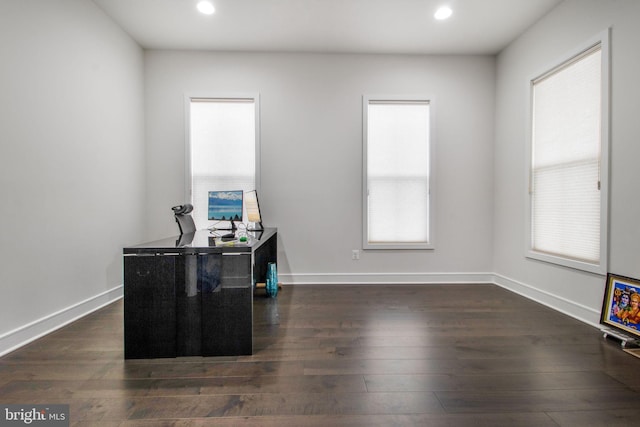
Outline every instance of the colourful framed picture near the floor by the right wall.
<path id="1" fill-rule="evenodd" d="M 600 323 L 640 338 L 640 281 L 607 274 Z"/>

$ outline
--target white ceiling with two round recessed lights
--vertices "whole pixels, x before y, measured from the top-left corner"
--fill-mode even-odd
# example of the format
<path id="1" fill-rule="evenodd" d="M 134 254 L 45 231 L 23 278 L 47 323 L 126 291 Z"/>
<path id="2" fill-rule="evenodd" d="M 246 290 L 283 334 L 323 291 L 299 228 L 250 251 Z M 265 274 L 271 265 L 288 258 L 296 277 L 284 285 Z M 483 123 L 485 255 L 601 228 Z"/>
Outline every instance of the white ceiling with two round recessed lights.
<path id="1" fill-rule="evenodd" d="M 562 0 L 93 1 L 147 49 L 496 54 Z"/>

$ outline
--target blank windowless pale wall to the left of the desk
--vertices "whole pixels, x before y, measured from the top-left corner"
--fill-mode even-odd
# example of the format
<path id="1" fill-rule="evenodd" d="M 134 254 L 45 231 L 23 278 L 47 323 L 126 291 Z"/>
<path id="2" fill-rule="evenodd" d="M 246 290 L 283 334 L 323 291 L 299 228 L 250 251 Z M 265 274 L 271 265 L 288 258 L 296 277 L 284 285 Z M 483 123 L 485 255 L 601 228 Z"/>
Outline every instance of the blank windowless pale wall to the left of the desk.
<path id="1" fill-rule="evenodd" d="M 0 2 L 0 354 L 121 294 L 142 239 L 142 49 L 93 2 Z"/>

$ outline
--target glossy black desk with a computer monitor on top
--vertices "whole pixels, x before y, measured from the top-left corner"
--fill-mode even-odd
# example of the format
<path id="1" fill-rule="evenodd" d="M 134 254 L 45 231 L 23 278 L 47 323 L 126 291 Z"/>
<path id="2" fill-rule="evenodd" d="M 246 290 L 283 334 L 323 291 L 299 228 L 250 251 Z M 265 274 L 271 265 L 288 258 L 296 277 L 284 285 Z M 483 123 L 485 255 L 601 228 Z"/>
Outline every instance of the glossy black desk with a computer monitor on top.
<path id="1" fill-rule="evenodd" d="M 123 249 L 124 357 L 248 355 L 253 284 L 277 258 L 277 229 L 247 243 L 208 230 Z"/>

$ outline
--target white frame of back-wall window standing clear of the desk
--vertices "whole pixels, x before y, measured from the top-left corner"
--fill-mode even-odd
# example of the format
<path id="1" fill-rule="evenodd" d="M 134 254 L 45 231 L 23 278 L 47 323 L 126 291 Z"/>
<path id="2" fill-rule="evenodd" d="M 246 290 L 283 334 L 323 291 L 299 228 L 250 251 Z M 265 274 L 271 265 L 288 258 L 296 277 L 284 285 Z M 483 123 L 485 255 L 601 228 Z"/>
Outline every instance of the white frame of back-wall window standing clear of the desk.
<path id="1" fill-rule="evenodd" d="M 427 242 L 385 242 L 371 243 L 368 239 L 369 231 L 369 211 L 368 211 L 368 110 L 371 102 L 421 102 L 429 105 L 429 162 L 427 176 Z M 435 248 L 434 239 L 434 205 L 435 205 L 435 101 L 433 96 L 422 94 L 414 95 L 364 95 L 362 97 L 362 248 L 364 250 L 433 250 Z M 408 225 L 407 225 L 408 226 Z"/>

